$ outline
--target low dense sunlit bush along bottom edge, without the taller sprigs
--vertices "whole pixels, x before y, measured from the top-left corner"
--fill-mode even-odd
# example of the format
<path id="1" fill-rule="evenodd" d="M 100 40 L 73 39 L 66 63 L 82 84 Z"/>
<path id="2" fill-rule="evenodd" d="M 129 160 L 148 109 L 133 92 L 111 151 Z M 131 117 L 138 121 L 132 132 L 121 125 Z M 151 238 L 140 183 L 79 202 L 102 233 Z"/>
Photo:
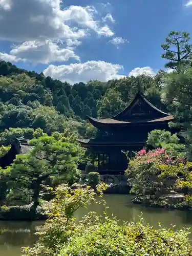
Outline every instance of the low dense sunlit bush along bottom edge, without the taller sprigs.
<path id="1" fill-rule="evenodd" d="M 63 244 L 58 256 L 120 256 L 120 255 L 191 255 L 192 250 L 187 238 L 187 231 L 173 231 L 150 225 L 124 223 L 119 225 L 116 219 L 107 218 L 81 224 L 79 230 Z"/>

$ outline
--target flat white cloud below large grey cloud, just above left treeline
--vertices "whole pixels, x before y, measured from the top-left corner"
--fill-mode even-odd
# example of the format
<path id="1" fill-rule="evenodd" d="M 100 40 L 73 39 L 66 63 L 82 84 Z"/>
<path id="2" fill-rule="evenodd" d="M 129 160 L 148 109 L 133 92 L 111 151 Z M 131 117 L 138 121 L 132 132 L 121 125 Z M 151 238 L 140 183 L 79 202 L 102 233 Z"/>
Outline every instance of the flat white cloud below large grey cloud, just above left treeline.
<path id="1" fill-rule="evenodd" d="M 7 54 L 7 58 L 12 61 L 30 61 L 33 63 L 48 64 L 53 61 L 68 61 L 70 58 L 77 60 L 77 56 L 73 49 L 59 47 L 51 40 L 46 41 L 26 41 L 23 44 L 16 46 Z M 3 59 L 5 59 L 4 56 Z"/>

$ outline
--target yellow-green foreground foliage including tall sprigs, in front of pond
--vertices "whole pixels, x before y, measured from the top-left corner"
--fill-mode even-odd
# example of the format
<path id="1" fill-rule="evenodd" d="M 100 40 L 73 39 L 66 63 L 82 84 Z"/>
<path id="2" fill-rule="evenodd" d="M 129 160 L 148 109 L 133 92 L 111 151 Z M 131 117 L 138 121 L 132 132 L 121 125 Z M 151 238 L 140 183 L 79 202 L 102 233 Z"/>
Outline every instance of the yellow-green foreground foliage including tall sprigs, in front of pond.
<path id="1" fill-rule="evenodd" d="M 46 221 L 39 241 L 32 248 L 24 248 L 23 256 L 191 255 L 188 230 L 161 226 L 155 230 L 142 218 L 138 223 L 120 225 L 107 215 L 105 203 L 103 217 L 90 212 L 76 223 L 74 212 L 93 201 L 95 193 L 89 187 L 71 190 L 59 186 L 50 213 L 55 218 Z"/>

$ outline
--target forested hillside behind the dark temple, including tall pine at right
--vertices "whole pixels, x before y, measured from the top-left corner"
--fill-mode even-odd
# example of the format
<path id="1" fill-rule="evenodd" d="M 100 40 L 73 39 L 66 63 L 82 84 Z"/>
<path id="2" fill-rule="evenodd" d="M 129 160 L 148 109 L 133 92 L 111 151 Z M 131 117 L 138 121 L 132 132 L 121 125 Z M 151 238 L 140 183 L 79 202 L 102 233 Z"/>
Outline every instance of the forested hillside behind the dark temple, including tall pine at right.
<path id="1" fill-rule="evenodd" d="M 113 116 L 129 104 L 138 91 L 158 108 L 178 114 L 186 121 L 192 105 L 189 40 L 189 34 L 173 31 L 162 45 L 165 51 L 162 57 L 169 61 L 166 67 L 172 70 L 107 82 L 90 80 L 87 84 L 69 84 L 0 61 L 1 132 L 11 127 L 40 127 L 50 134 L 73 127 L 79 136 L 90 137 L 95 130 L 87 123 L 87 115 Z M 179 55 L 173 51 L 177 44 Z"/>

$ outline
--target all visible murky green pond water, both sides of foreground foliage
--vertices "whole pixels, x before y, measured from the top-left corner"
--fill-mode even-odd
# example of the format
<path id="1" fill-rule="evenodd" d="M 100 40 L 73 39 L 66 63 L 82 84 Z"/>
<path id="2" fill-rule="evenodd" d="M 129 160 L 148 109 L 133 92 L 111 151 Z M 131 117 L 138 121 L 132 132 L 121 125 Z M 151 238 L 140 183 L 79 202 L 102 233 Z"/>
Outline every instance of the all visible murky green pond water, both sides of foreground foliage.
<path id="1" fill-rule="evenodd" d="M 158 222 L 161 222 L 163 227 L 172 227 L 175 229 L 182 227 L 191 227 L 192 212 L 180 210 L 166 210 L 158 208 L 147 208 L 142 205 L 131 203 L 132 196 L 130 195 L 104 195 L 108 209 L 108 215 L 113 214 L 117 219 L 122 221 L 138 220 L 143 212 L 145 222 L 158 228 Z M 77 220 L 86 214 L 88 211 L 96 211 L 101 215 L 104 206 L 102 204 L 89 205 L 88 209 L 79 209 L 76 214 Z M 0 222 L 0 229 L 5 229 L 3 234 L 0 234 L 0 255 L 1 256 L 20 256 L 20 248 L 33 245 L 37 239 L 34 236 L 40 225 L 44 222 Z M 192 234 L 190 235 L 192 240 Z"/>

